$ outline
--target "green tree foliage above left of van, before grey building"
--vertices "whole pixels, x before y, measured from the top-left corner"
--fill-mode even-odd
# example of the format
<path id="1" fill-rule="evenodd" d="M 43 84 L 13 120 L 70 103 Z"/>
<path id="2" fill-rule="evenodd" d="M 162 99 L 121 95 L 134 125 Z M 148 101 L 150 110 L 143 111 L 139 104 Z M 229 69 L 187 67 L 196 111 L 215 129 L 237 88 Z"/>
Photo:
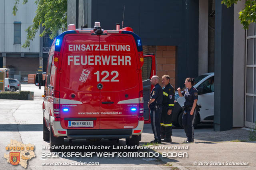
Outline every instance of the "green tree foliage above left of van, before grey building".
<path id="1" fill-rule="evenodd" d="M 26 4 L 28 0 L 23 0 L 22 4 Z M 20 0 L 15 0 L 12 13 L 14 16 L 18 10 L 17 6 Z M 36 16 L 33 19 L 33 24 L 26 29 L 27 39 L 22 47 L 26 48 L 30 46 L 30 42 L 36 36 L 36 32 L 40 28 L 40 25 L 44 27 L 40 37 L 46 34 L 50 34 L 50 39 L 54 39 L 58 33 L 58 30 L 67 29 L 67 0 L 36 0 L 35 4 L 38 5 L 36 10 Z"/>

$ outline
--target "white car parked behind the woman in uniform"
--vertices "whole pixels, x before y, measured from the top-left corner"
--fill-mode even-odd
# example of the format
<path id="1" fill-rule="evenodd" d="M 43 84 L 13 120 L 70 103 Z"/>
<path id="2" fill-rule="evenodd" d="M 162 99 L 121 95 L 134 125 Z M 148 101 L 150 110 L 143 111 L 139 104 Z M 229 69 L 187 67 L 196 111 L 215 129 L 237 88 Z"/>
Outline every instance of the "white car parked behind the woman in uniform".
<path id="1" fill-rule="evenodd" d="M 198 90 L 198 105 L 202 108 L 196 118 L 196 125 L 198 123 L 213 122 L 214 118 L 214 73 L 202 74 L 195 78 L 194 87 Z M 182 89 L 184 90 L 185 87 Z M 182 106 L 185 98 L 180 97 L 178 92 L 175 93 L 175 103 L 172 115 L 172 123 L 174 125 L 182 126 Z"/>

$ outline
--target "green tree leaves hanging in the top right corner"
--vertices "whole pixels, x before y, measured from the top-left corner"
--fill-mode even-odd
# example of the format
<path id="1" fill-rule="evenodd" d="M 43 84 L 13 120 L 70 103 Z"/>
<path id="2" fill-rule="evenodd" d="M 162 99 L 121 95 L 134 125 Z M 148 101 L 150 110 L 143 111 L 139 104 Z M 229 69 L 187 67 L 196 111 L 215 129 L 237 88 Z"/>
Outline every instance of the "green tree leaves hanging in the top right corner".
<path id="1" fill-rule="evenodd" d="M 228 8 L 232 4 L 236 4 L 238 0 L 222 0 L 222 4 L 225 4 Z M 256 22 L 256 2 L 255 0 L 246 0 L 245 7 L 239 13 L 239 19 L 244 29 L 248 29 L 249 24 Z"/>

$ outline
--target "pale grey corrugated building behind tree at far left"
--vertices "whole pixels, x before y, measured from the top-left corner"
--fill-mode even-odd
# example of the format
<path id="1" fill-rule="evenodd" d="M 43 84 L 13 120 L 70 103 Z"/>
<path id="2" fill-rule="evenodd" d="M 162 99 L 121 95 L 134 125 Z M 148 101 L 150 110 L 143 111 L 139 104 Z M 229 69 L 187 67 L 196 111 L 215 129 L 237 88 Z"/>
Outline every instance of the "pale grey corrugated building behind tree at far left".
<path id="1" fill-rule="evenodd" d="M 51 40 L 49 36 L 39 37 L 43 28 L 36 33 L 30 47 L 23 48 L 26 29 L 33 24 L 37 5 L 29 0 L 18 5 L 16 16 L 12 14 L 14 0 L 2 0 L 0 6 L 0 68 L 10 68 L 10 78 L 22 79 L 28 74 L 46 71 Z M 16 75 L 14 77 L 14 75 Z"/>

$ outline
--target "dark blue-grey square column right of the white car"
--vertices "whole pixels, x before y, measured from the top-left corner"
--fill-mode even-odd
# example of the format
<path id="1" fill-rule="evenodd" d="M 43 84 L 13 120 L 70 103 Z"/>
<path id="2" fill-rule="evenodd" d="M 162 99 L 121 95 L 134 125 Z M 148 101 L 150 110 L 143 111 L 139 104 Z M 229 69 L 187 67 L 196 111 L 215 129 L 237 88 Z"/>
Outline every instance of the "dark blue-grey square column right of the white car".
<path id="1" fill-rule="evenodd" d="M 233 127 L 234 5 L 216 0 L 214 53 L 214 131 Z"/>

